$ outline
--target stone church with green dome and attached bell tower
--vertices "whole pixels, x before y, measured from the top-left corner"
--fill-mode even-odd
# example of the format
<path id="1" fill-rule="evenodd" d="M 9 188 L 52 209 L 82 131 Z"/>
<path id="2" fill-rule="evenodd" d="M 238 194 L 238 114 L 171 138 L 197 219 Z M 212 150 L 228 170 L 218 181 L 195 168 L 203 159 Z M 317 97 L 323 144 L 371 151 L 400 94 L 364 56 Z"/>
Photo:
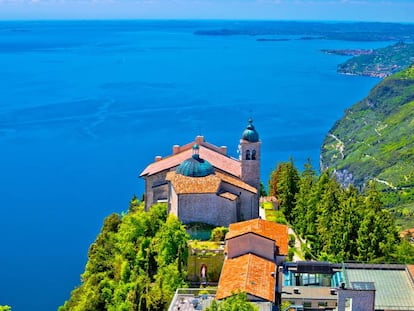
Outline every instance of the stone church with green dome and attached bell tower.
<path id="1" fill-rule="evenodd" d="M 197 136 L 157 156 L 140 174 L 145 179 L 145 208 L 167 202 L 183 223 L 215 226 L 259 217 L 260 139 L 250 119 L 239 142 L 239 159 Z"/>

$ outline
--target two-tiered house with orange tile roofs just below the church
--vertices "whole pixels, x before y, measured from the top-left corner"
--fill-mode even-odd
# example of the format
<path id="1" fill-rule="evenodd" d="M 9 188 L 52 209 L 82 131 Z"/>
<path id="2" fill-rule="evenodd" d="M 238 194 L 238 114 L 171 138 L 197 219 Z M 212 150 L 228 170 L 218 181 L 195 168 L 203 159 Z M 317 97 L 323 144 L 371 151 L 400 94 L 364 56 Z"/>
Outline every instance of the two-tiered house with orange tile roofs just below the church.
<path id="1" fill-rule="evenodd" d="M 226 254 L 217 299 L 239 291 L 250 301 L 278 303 L 282 265 L 288 251 L 288 227 L 263 219 L 233 223 L 226 235 Z"/>

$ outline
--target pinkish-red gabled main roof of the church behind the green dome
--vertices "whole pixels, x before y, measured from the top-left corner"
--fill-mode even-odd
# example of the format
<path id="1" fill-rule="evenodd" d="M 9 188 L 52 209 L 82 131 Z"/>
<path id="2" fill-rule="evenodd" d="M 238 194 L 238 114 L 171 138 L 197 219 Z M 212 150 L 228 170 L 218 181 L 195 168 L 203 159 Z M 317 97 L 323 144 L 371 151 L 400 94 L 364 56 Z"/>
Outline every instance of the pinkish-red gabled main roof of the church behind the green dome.
<path id="1" fill-rule="evenodd" d="M 148 165 L 144 171 L 140 174 L 140 177 L 150 176 L 165 170 L 169 170 L 178 166 L 186 159 L 191 158 L 192 156 L 192 146 L 196 142 L 191 142 L 185 146 L 179 147 L 179 152 L 177 154 L 172 154 L 168 157 L 162 158 L 159 161 L 155 161 Z M 233 176 L 241 176 L 241 163 L 239 160 L 231 158 L 222 152 L 220 148 L 209 144 L 207 142 L 199 143 L 200 146 L 200 158 L 210 162 L 213 167 L 222 170 L 226 173 L 229 173 Z"/>

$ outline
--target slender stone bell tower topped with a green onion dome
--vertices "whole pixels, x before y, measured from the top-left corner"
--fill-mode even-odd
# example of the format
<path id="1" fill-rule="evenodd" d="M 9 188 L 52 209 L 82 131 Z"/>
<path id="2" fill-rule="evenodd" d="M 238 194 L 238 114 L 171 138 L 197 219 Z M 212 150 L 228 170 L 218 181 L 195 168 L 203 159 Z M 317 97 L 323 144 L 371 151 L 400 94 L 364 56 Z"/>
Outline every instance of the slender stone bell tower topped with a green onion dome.
<path id="1" fill-rule="evenodd" d="M 255 187 L 258 194 L 260 193 L 260 145 L 259 133 L 250 118 L 239 144 L 241 179 Z"/>

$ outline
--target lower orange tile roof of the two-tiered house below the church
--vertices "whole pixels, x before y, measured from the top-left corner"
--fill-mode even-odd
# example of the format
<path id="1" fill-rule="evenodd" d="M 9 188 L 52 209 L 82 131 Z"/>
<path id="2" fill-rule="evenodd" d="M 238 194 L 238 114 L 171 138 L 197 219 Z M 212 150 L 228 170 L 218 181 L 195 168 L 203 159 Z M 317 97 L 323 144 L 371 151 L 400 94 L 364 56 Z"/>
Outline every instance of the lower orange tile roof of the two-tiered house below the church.
<path id="1" fill-rule="evenodd" d="M 274 302 L 276 265 L 253 254 L 226 259 L 221 270 L 217 299 L 239 291 Z"/>

